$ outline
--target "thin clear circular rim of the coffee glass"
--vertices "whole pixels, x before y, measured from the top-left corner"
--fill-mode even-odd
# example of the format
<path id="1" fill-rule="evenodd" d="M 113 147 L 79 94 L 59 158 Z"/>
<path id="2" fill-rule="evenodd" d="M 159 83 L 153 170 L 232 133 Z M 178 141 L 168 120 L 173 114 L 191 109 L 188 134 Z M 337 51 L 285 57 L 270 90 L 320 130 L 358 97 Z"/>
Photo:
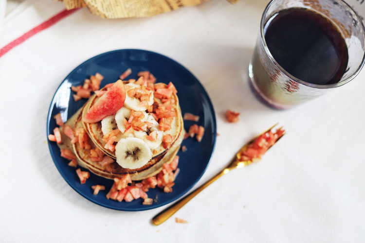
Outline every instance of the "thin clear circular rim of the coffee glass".
<path id="1" fill-rule="evenodd" d="M 263 47 L 265 49 L 265 52 L 268 54 L 270 60 L 274 63 L 274 65 L 276 67 L 278 67 L 280 69 L 280 71 L 282 71 L 286 76 L 288 76 L 289 78 L 291 78 L 293 81 L 299 83 L 299 84 L 302 84 L 304 86 L 307 86 L 307 87 L 313 87 L 313 88 L 321 88 L 321 89 L 326 89 L 326 88 L 334 88 L 334 87 L 340 87 L 340 86 L 343 86 L 344 84 L 347 84 L 348 82 L 350 82 L 352 79 L 354 79 L 357 74 L 360 72 L 360 70 L 363 68 L 364 66 L 364 63 L 365 63 L 365 52 L 363 52 L 363 59 L 361 60 L 361 63 L 359 65 L 359 67 L 357 67 L 357 69 L 354 71 L 353 74 L 351 74 L 349 77 L 347 77 L 346 79 L 340 81 L 340 82 L 337 82 L 337 83 L 334 83 L 334 84 L 329 84 L 329 85 L 317 85 L 317 84 L 311 84 L 311 83 L 308 83 L 306 81 L 303 81 L 301 79 L 298 79 L 296 77 L 294 77 L 292 74 L 290 74 L 288 71 L 286 71 L 285 69 L 283 69 L 277 62 L 276 60 L 274 59 L 273 55 L 271 54 L 267 44 L 266 44 L 266 39 L 265 39 L 265 34 L 264 34 L 264 27 L 265 27 L 265 23 L 264 20 L 265 20 L 265 17 L 268 13 L 268 10 L 269 8 L 271 7 L 271 5 L 277 0 L 270 0 L 270 2 L 267 4 L 263 14 L 262 14 L 262 17 L 261 17 L 261 20 L 260 20 L 260 36 L 261 36 L 261 42 L 263 44 Z M 356 13 L 356 11 L 350 6 L 347 4 L 347 2 L 343 1 L 343 0 L 337 0 L 339 1 L 342 5 L 344 5 L 348 11 L 351 12 L 352 16 L 354 18 L 356 18 L 357 22 L 360 23 L 361 25 L 361 28 L 363 30 L 363 39 L 364 39 L 364 45 L 365 45 L 365 27 L 364 27 L 364 23 L 363 21 L 361 20 L 361 18 L 358 16 L 358 14 Z"/>

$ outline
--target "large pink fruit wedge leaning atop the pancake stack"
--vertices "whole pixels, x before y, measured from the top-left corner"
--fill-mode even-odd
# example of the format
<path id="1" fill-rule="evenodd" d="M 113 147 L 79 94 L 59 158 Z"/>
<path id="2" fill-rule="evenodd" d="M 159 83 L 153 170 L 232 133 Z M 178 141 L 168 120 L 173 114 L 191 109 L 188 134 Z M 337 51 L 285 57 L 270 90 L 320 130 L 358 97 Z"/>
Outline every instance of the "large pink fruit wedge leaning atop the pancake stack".
<path id="1" fill-rule="evenodd" d="M 118 80 L 90 107 L 83 121 L 88 123 L 101 121 L 103 118 L 117 112 L 123 106 L 125 100 L 126 89 L 123 82 Z"/>

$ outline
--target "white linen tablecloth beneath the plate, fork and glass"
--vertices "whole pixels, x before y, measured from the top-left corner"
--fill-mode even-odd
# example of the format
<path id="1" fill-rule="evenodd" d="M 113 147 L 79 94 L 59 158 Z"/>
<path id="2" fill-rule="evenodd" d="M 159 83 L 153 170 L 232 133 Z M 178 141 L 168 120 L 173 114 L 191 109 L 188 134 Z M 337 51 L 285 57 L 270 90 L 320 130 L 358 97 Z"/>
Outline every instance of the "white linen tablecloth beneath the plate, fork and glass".
<path id="1" fill-rule="evenodd" d="M 365 242 L 365 70 L 290 110 L 261 104 L 247 68 L 267 2 L 211 0 L 140 19 L 81 9 L 3 55 L 0 242 Z M 25 0 L 4 18 L 0 47 L 63 9 Z M 73 191 L 47 145 L 47 112 L 60 82 L 94 55 L 129 48 L 178 61 L 211 98 L 219 136 L 194 188 L 274 123 L 287 131 L 260 162 L 219 178 L 160 226 L 150 220 L 167 205 L 118 211 Z M 225 120 L 227 109 L 240 112 L 237 123 Z"/>

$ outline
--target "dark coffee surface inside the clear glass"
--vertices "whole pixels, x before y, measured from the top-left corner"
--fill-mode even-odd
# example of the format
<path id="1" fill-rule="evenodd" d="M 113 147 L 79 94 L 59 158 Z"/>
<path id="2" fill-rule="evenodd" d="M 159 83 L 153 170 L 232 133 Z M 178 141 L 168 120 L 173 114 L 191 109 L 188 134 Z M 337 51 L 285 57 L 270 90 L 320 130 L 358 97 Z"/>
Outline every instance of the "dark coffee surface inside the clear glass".
<path id="1" fill-rule="evenodd" d="M 313 11 L 279 12 L 267 26 L 265 40 L 276 62 L 305 82 L 334 84 L 347 68 L 344 38 L 327 18 Z"/>

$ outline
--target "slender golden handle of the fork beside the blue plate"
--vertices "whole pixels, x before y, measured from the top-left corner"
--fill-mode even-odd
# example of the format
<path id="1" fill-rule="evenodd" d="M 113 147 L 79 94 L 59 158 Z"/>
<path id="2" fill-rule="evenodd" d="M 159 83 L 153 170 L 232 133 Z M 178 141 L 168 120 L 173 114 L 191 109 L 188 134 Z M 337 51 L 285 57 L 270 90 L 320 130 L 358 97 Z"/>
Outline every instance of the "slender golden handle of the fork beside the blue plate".
<path id="1" fill-rule="evenodd" d="M 152 224 L 155 226 L 158 226 L 162 223 L 164 223 L 168 218 L 170 218 L 177 210 L 182 208 L 187 202 L 190 201 L 193 197 L 195 197 L 199 192 L 203 191 L 204 188 L 209 186 L 211 183 L 213 183 L 215 180 L 217 180 L 220 176 L 223 174 L 227 174 L 229 172 L 229 169 L 224 169 L 220 171 L 218 174 L 210 178 L 207 182 L 202 184 L 200 187 L 195 189 L 194 191 L 190 192 L 188 195 L 184 196 L 182 199 L 180 199 L 178 202 L 174 203 L 173 205 L 169 206 L 168 208 L 165 208 L 163 211 L 161 211 L 159 214 L 157 214 L 152 219 Z"/>

